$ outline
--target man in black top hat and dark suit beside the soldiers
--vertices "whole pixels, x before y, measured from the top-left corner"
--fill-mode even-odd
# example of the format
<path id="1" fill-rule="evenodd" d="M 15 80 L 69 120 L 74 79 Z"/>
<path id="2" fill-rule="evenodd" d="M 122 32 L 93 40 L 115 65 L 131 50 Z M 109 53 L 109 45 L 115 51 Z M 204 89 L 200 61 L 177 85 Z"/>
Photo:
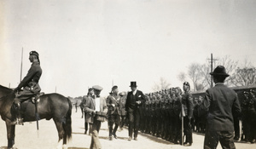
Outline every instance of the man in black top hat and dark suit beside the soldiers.
<path id="1" fill-rule="evenodd" d="M 137 90 L 136 82 L 131 82 L 131 92 L 128 93 L 125 109 L 128 112 L 129 118 L 129 139 L 131 140 L 132 134 L 134 131 L 134 140 L 137 140 L 138 128 L 139 128 L 139 121 L 141 116 L 141 107 L 145 103 L 146 99 L 143 95 L 143 92 Z"/>

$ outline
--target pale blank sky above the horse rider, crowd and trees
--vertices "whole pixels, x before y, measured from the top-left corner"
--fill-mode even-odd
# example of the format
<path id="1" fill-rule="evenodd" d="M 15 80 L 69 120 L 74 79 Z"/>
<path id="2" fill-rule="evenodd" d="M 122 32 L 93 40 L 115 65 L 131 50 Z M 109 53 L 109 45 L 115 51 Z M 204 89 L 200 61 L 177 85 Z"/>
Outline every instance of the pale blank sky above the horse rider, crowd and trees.
<path id="1" fill-rule="evenodd" d="M 2 0 L 0 84 L 15 88 L 39 53 L 45 93 L 86 95 L 101 85 L 152 92 L 160 77 L 173 87 L 191 63 L 230 55 L 256 66 L 254 0 Z M 188 80 L 190 83 L 191 81 Z"/>

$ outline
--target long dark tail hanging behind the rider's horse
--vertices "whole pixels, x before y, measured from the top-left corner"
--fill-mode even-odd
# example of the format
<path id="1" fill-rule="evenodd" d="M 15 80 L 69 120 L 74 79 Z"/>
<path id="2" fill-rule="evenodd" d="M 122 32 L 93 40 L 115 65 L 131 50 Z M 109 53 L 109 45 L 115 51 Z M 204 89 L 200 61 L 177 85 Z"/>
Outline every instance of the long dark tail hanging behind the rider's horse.
<path id="1" fill-rule="evenodd" d="M 67 102 L 69 107 L 66 115 L 66 123 L 63 123 L 63 129 L 65 131 L 65 134 L 67 135 L 67 140 L 70 140 L 72 138 L 72 126 L 71 126 L 72 103 L 68 98 L 67 98 Z"/>

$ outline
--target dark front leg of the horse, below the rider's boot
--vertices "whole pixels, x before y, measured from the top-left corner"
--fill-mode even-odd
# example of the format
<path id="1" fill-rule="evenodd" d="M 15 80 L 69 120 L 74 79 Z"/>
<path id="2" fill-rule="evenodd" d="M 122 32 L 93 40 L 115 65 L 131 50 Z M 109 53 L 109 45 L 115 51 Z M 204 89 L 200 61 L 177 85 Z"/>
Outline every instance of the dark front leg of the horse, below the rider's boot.
<path id="1" fill-rule="evenodd" d="M 15 125 L 11 125 L 8 120 L 5 122 L 5 124 L 6 124 L 7 139 L 8 139 L 7 148 L 12 148 L 15 145 Z"/>

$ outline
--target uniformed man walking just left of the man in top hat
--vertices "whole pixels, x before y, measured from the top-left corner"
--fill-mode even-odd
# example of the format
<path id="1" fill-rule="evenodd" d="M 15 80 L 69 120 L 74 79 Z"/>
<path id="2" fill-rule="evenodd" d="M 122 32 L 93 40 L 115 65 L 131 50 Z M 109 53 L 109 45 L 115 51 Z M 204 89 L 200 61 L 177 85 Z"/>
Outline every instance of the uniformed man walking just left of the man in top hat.
<path id="1" fill-rule="evenodd" d="M 118 86 L 112 87 L 112 94 L 108 95 L 107 106 L 108 106 L 108 129 L 109 129 L 109 140 L 112 140 L 112 135 L 117 139 L 116 131 L 119 128 L 120 123 L 120 112 L 119 112 L 119 89 Z M 113 128 L 114 123 L 114 128 Z"/>

